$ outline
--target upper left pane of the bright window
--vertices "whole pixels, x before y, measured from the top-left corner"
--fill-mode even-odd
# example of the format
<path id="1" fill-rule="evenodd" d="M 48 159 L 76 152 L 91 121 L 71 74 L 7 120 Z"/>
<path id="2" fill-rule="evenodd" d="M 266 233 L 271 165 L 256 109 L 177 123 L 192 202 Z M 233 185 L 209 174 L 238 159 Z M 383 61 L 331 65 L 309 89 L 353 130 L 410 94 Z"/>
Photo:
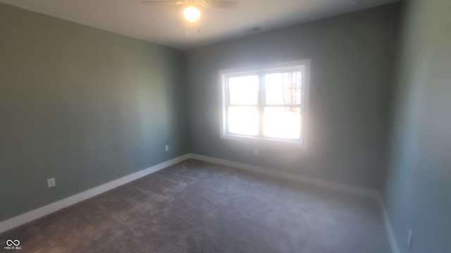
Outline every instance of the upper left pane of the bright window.
<path id="1" fill-rule="evenodd" d="M 257 105 L 259 77 L 229 77 L 228 93 L 230 105 Z"/>

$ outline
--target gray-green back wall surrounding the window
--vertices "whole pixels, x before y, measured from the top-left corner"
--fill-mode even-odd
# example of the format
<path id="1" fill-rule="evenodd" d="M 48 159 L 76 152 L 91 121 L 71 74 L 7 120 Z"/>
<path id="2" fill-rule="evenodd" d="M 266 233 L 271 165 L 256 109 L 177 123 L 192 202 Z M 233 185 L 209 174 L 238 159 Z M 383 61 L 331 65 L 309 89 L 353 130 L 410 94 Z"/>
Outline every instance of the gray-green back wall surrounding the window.
<path id="1" fill-rule="evenodd" d="M 392 4 L 187 51 L 192 153 L 380 190 L 399 10 Z M 307 150 L 219 138 L 218 70 L 306 58 Z"/>

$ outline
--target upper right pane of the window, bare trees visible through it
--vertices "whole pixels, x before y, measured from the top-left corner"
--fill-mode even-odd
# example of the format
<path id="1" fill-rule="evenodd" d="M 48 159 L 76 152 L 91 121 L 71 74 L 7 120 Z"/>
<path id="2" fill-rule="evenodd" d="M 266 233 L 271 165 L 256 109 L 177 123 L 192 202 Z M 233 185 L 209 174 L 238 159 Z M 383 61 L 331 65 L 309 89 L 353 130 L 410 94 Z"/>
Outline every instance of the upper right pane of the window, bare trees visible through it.
<path id="1" fill-rule="evenodd" d="M 266 105 L 300 105 L 302 72 L 277 72 L 264 75 Z"/>

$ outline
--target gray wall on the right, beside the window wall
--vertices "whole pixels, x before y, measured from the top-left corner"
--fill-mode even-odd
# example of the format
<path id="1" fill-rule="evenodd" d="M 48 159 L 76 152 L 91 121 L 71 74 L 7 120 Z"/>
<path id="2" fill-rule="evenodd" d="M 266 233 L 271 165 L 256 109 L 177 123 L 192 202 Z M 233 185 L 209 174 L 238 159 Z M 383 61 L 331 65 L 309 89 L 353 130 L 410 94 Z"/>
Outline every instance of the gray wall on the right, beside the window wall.
<path id="1" fill-rule="evenodd" d="M 401 252 L 445 253 L 451 240 L 451 1 L 406 4 L 385 203 Z"/>

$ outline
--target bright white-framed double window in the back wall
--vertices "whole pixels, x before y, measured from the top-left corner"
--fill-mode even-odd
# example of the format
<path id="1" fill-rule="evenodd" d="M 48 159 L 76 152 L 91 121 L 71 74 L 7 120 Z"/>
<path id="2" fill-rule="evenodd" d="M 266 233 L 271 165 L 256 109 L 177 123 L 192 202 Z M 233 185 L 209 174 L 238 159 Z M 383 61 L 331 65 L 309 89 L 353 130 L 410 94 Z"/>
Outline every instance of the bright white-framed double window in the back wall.
<path id="1" fill-rule="evenodd" d="M 307 143 L 310 60 L 219 71 L 221 138 Z"/>

